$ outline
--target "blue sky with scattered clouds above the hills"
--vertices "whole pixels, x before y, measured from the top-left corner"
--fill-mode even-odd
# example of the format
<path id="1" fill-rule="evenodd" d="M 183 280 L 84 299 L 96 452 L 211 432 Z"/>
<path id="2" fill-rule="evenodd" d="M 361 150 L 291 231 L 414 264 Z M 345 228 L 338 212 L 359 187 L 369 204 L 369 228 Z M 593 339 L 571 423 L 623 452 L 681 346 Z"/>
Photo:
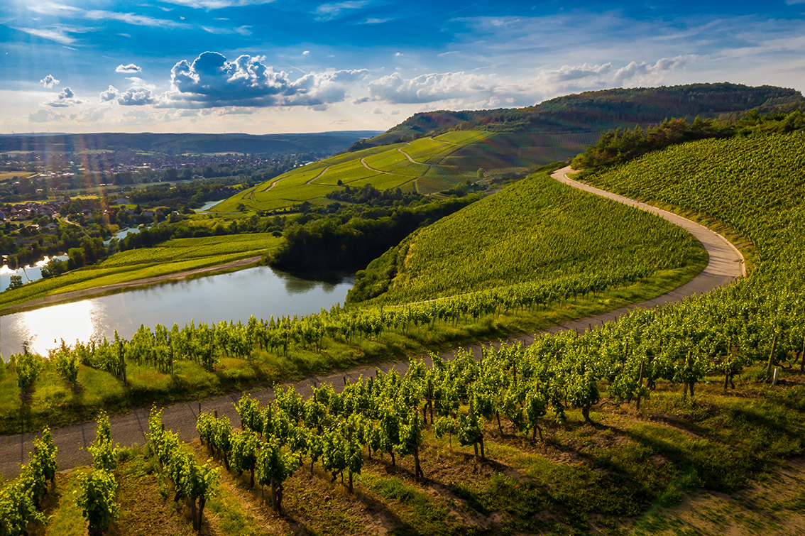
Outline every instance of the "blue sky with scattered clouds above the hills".
<path id="1" fill-rule="evenodd" d="M 805 0 L 2 0 L 0 133 L 387 130 L 417 112 L 805 89 Z"/>

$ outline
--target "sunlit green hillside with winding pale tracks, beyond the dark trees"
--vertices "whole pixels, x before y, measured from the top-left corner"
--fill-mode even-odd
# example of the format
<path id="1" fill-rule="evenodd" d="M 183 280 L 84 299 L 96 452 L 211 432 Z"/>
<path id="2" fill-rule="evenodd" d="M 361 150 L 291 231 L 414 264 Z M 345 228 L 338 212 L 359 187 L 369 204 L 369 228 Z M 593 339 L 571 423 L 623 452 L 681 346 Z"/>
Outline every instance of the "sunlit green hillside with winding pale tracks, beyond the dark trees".
<path id="1" fill-rule="evenodd" d="M 496 170 L 528 169 L 564 159 L 568 150 L 584 149 L 585 136 L 589 137 L 568 134 L 557 142 L 555 136 L 466 130 L 372 147 L 287 171 L 222 201 L 214 210 L 235 212 L 243 205 L 247 210 L 268 211 L 303 201 L 321 204 L 328 192 L 348 185 L 361 188 L 371 184 L 379 190 L 403 188 L 433 195 L 468 180 L 476 181 L 479 168 L 493 174 Z"/>

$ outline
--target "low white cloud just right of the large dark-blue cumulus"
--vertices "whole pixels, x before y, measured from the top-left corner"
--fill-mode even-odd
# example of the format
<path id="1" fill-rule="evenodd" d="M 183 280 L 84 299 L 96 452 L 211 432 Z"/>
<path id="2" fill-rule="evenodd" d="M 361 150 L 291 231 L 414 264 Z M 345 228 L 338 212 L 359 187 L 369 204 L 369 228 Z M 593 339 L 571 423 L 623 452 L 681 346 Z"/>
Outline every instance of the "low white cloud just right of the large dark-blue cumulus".
<path id="1" fill-rule="evenodd" d="M 492 85 L 483 76 L 465 72 L 444 72 L 405 79 L 398 72 L 369 83 L 372 97 L 392 104 L 444 101 L 476 95 L 490 95 Z"/>

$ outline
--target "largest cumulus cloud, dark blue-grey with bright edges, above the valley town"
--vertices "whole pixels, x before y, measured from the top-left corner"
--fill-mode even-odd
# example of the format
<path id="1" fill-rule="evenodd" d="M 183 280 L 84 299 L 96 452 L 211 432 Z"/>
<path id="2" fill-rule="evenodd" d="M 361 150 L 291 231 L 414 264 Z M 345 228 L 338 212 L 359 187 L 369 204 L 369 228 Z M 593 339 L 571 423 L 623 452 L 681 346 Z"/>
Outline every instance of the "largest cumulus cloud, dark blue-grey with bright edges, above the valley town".
<path id="1" fill-rule="evenodd" d="M 171 91 L 157 103 L 173 108 L 223 106 L 310 106 L 325 109 L 341 102 L 346 90 L 369 75 L 366 69 L 309 72 L 291 80 L 275 72 L 262 56 L 239 56 L 227 61 L 218 52 L 204 52 L 190 64 L 182 60 L 171 69 Z"/>

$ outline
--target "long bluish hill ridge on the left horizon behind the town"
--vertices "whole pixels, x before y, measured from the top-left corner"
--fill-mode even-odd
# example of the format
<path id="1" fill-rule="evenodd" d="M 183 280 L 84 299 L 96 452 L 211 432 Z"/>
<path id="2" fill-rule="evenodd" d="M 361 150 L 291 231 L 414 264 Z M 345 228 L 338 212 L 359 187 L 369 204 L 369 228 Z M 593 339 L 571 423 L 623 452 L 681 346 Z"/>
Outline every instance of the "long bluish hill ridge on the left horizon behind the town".
<path id="1" fill-rule="evenodd" d="M 20 134 L 0 137 L 0 151 L 78 153 L 84 150 L 134 150 L 167 155 L 184 153 L 312 153 L 332 155 L 375 130 L 345 130 L 313 134 Z"/>

